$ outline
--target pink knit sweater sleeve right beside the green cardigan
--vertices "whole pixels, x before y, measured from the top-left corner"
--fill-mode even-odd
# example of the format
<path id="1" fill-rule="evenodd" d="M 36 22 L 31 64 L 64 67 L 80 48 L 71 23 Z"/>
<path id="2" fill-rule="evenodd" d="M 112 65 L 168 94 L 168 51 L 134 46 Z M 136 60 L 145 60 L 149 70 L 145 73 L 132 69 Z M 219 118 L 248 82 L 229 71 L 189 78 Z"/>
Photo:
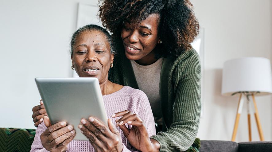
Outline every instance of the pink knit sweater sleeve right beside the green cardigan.
<path id="1" fill-rule="evenodd" d="M 153 113 L 150 107 L 149 100 L 145 93 L 142 94 L 142 100 L 140 102 L 140 107 L 139 107 L 139 111 L 137 115 L 144 122 L 149 136 L 156 135 L 156 128 L 155 128 Z M 131 150 L 127 149 L 127 147 L 123 144 L 122 152 L 131 152 Z M 136 150 L 134 152 L 138 152 L 138 151 Z"/>

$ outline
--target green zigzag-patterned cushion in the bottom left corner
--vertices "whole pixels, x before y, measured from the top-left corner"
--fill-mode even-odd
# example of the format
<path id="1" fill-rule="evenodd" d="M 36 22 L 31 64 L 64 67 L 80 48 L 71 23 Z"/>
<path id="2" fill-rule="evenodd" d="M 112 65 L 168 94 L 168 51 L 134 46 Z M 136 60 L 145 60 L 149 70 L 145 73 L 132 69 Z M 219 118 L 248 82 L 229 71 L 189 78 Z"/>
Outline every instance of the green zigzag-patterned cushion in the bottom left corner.
<path id="1" fill-rule="evenodd" d="M 0 128 L 0 151 L 29 152 L 35 133 L 35 129 Z"/>

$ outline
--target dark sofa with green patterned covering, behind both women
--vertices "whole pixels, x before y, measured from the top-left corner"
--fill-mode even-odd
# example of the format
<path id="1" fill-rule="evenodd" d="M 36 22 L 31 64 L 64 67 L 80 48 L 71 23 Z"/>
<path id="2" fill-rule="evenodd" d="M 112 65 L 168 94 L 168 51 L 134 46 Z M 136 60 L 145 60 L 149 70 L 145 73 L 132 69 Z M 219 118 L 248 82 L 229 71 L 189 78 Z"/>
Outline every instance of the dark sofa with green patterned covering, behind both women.
<path id="1" fill-rule="evenodd" d="M 35 129 L 0 128 L 0 152 L 29 152 L 35 137 Z M 200 152 L 272 152 L 272 142 L 231 142 L 201 140 Z M 192 146 L 194 147 L 194 146 Z M 187 151 L 196 152 L 190 147 Z"/>

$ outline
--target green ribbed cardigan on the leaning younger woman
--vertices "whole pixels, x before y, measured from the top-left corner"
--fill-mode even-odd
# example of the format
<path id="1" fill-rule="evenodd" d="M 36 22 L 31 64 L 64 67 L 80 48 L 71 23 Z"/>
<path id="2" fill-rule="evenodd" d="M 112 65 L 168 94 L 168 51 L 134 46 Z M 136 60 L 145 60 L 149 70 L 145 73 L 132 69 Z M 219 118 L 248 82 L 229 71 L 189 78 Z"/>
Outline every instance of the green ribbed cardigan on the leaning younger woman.
<path id="1" fill-rule="evenodd" d="M 130 60 L 122 45 L 108 79 L 138 89 Z M 177 57 L 164 58 L 160 77 L 163 132 L 151 136 L 160 151 L 185 151 L 196 138 L 201 109 L 201 67 L 199 55 L 189 49 Z"/>

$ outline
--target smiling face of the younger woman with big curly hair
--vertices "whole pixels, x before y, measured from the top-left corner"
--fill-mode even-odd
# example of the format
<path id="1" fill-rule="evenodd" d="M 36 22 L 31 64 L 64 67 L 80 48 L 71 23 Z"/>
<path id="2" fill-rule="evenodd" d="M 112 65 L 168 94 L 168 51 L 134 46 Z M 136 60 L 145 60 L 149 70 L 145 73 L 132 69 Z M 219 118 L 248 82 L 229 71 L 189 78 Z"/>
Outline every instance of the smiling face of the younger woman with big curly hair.
<path id="1" fill-rule="evenodd" d="M 129 60 L 140 60 L 143 57 L 154 55 L 153 49 L 159 43 L 158 14 L 150 14 L 139 27 L 130 29 L 126 22 L 121 31 L 126 57 Z"/>

